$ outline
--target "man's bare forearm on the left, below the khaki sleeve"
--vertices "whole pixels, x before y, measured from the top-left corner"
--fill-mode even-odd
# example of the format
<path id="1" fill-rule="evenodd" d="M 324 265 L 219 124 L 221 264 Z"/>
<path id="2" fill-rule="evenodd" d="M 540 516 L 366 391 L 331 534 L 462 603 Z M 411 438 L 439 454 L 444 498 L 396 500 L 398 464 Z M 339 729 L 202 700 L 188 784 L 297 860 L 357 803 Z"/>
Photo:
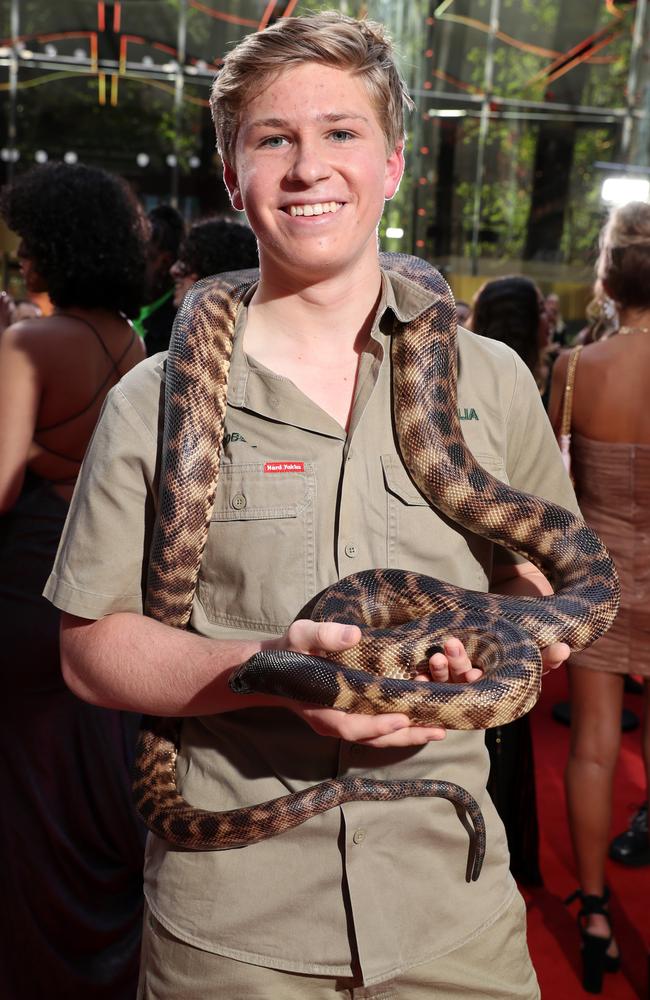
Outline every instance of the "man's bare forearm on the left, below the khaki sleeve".
<path id="1" fill-rule="evenodd" d="M 232 669 L 259 649 L 256 641 L 207 639 L 142 615 L 62 616 L 64 680 L 105 708 L 185 716 L 267 704 L 228 688 Z"/>

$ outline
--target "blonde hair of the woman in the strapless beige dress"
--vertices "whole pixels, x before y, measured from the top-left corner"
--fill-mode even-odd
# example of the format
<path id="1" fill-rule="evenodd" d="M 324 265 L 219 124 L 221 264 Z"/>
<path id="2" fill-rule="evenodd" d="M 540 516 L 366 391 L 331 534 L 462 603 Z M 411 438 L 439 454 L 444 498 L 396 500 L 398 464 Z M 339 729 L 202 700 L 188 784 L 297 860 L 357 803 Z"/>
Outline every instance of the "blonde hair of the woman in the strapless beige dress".
<path id="1" fill-rule="evenodd" d="M 613 209 L 601 233 L 596 273 L 621 306 L 650 306 L 650 205 Z"/>

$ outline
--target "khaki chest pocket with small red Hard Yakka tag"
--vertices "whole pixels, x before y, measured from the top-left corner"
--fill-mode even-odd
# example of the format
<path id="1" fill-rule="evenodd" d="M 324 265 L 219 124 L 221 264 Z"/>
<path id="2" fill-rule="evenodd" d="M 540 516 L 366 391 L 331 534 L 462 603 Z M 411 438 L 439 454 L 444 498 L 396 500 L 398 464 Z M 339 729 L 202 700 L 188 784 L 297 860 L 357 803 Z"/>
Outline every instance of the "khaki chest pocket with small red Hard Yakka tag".
<path id="1" fill-rule="evenodd" d="M 264 463 L 219 474 L 197 596 L 207 618 L 283 632 L 315 590 L 315 476 Z"/>

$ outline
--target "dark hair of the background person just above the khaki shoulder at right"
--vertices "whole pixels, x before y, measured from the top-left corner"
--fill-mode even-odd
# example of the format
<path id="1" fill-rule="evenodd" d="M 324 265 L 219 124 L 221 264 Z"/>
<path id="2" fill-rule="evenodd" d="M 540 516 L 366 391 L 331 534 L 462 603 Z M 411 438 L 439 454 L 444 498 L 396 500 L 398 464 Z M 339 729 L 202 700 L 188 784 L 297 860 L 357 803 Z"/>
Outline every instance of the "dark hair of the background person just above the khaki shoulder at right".
<path id="1" fill-rule="evenodd" d="M 517 352 L 533 374 L 539 365 L 540 293 L 523 275 L 488 281 L 479 291 L 472 310 L 472 330 L 500 340 Z"/>

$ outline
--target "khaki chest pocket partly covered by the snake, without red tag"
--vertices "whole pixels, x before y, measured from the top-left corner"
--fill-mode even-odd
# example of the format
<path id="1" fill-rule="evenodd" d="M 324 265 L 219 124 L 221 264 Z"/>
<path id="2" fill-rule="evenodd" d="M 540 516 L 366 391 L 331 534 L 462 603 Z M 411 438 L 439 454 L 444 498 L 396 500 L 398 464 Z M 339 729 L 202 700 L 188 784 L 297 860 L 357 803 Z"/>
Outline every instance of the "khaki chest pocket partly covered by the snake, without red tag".
<path id="1" fill-rule="evenodd" d="M 499 456 L 476 454 L 491 475 L 507 482 Z M 484 590 L 492 569 L 492 543 L 432 508 L 395 455 L 382 455 L 386 489 L 386 565 Z"/>

